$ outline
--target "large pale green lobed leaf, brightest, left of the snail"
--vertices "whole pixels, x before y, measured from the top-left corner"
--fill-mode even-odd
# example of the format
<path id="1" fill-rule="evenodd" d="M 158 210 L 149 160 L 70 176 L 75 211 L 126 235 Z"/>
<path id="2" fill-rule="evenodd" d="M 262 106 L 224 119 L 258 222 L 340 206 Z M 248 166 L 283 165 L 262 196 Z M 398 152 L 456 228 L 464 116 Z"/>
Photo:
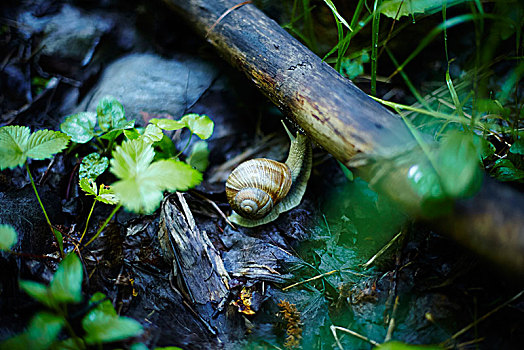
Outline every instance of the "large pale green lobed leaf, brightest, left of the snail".
<path id="1" fill-rule="evenodd" d="M 202 181 L 202 174 L 175 160 L 152 163 L 153 147 L 143 140 L 124 141 L 113 152 L 111 172 L 120 181 L 112 185 L 117 198 L 137 213 L 151 213 L 163 197 L 163 191 L 187 190 Z"/>

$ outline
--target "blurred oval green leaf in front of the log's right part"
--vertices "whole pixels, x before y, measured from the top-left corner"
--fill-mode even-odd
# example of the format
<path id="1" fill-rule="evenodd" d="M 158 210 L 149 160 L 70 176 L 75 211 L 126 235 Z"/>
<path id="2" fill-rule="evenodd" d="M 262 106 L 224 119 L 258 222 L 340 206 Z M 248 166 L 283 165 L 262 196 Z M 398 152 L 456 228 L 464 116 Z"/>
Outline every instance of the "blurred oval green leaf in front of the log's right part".
<path id="1" fill-rule="evenodd" d="M 452 197 L 469 196 L 479 189 L 479 152 L 472 135 L 454 131 L 444 136 L 437 171 L 445 192 Z"/>

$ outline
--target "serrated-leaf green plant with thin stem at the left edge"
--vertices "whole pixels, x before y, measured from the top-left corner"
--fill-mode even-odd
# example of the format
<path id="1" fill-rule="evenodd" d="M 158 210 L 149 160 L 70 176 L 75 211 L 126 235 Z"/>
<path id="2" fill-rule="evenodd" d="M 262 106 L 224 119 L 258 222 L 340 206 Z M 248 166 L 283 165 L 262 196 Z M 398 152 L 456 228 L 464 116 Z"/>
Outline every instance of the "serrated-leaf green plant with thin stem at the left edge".
<path id="1" fill-rule="evenodd" d="M 37 160 L 51 158 L 54 154 L 61 152 L 68 143 L 69 136 L 60 131 L 39 130 L 31 133 L 29 128 L 25 126 L 4 126 L 0 128 L 0 170 L 13 169 L 25 164 L 38 203 L 44 212 L 51 233 L 55 236 L 62 256 L 64 255 L 62 234 L 53 228 L 49 220 L 36 190 L 27 160 L 29 158 Z"/>

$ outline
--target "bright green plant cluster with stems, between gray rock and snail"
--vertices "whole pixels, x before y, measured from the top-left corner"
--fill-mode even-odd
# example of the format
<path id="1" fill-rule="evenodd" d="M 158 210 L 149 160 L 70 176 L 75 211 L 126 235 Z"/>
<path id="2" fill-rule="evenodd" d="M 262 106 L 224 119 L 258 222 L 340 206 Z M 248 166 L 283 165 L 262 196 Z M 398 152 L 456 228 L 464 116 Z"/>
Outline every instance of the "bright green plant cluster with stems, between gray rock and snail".
<path id="1" fill-rule="evenodd" d="M 104 224 L 86 243 L 87 246 L 101 234 L 122 206 L 136 213 L 151 213 L 158 207 L 164 190 L 187 190 L 199 184 L 202 181 L 200 171 L 204 171 L 208 164 L 207 144 L 204 141 L 195 143 L 187 164 L 179 161 L 178 157 L 189 146 L 193 135 L 202 140 L 208 139 L 214 124 L 208 116 L 192 113 L 180 120 L 153 118 L 145 128 L 135 128 L 134 121 L 126 120 L 122 104 L 114 97 L 106 96 L 98 103 L 96 113 L 70 115 L 60 128 L 76 143 L 96 139 L 99 148 L 99 152 L 88 154 L 80 164 L 80 187 L 88 195 L 95 196 L 80 241 L 87 231 L 96 202 L 116 204 Z M 173 141 L 162 130 L 182 128 L 188 128 L 191 134 L 185 147 L 177 152 Z M 114 148 L 117 137 L 122 133 L 125 140 Z M 104 139 L 108 140 L 107 144 Z M 111 160 L 103 155 L 109 152 L 112 152 Z M 95 180 L 109 165 L 119 180 L 110 188 L 100 185 L 97 191 Z"/>

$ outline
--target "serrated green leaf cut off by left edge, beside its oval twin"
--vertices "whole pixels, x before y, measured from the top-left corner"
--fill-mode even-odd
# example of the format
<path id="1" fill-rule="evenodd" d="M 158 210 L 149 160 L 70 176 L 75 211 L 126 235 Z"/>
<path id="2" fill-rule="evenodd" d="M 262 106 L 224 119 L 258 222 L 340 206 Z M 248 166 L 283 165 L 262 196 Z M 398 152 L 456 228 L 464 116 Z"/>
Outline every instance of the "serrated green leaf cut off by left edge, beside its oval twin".
<path id="1" fill-rule="evenodd" d="M 25 163 L 29 134 L 30 130 L 25 126 L 9 125 L 0 128 L 0 170 L 12 169 Z"/>

